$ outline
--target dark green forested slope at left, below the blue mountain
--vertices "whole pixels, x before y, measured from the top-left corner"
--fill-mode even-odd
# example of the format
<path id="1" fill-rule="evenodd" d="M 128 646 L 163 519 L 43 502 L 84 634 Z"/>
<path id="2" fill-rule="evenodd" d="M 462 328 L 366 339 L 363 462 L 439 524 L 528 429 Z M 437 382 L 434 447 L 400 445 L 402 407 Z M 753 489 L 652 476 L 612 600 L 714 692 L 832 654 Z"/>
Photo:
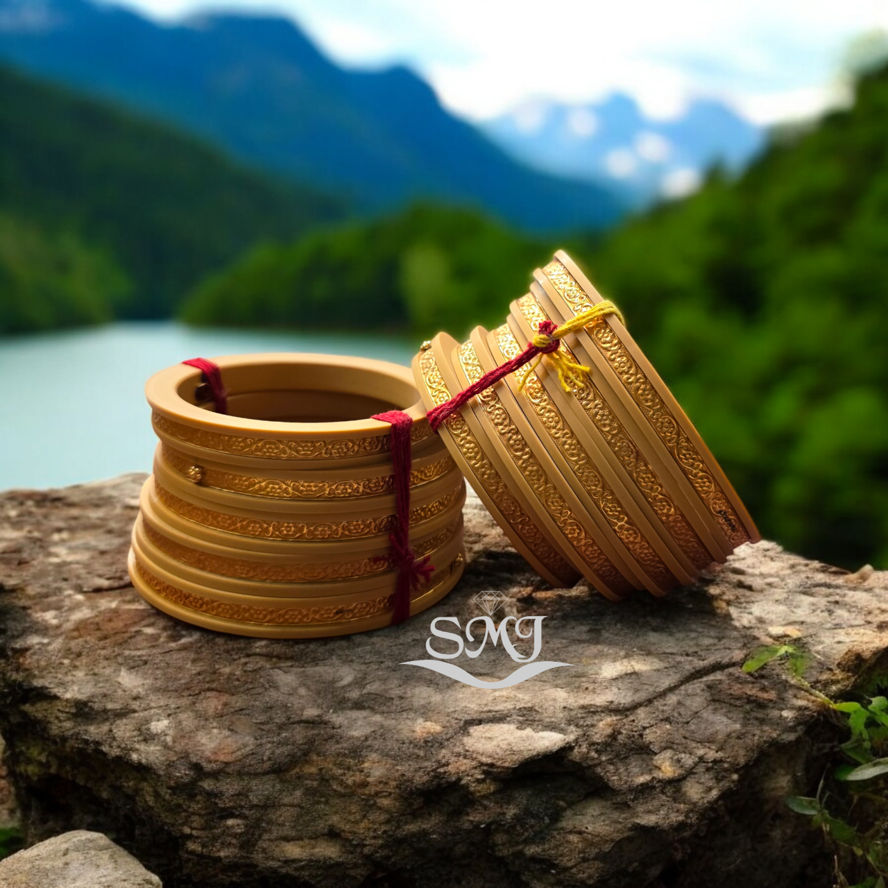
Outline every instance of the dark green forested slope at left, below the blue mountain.
<path id="1" fill-rule="evenodd" d="M 0 68 L 0 280 L 18 281 L 0 287 L 0 332 L 169 316 L 254 242 L 343 215 L 193 137 Z M 59 274 L 44 286 L 27 256 Z M 108 281 L 115 304 L 79 295 L 87 280 Z M 39 310 L 26 305 L 38 290 L 54 294 Z"/>

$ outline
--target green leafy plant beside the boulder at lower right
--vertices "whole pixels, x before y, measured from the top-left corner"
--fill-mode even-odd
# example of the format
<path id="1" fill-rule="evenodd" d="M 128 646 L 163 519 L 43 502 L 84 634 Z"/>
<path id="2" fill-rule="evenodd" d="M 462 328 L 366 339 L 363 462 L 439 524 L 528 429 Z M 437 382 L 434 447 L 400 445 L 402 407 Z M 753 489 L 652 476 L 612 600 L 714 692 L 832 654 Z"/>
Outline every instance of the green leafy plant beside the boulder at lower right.
<path id="1" fill-rule="evenodd" d="M 847 732 L 817 795 L 792 796 L 786 804 L 821 829 L 836 860 L 836 888 L 888 888 L 888 697 L 831 700 L 805 680 L 810 656 L 797 645 L 761 647 L 742 669 L 755 672 L 772 662 L 782 662 Z M 873 685 L 880 690 L 888 677 Z"/>

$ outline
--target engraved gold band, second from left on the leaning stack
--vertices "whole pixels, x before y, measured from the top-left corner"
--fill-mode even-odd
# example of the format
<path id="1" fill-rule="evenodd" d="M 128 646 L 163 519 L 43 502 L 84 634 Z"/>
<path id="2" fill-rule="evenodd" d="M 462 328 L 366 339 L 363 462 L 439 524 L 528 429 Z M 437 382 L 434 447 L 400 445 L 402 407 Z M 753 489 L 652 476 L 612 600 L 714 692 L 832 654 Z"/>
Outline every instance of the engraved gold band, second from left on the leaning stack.
<path id="1" fill-rule="evenodd" d="M 457 351 L 459 361 L 469 382 L 477 382 L 484 375 L 484 370 L 481 368 L 472 343 L 467 342 L 460 345 Z M 575 548 L 591 571 L 599 576 L 608 588 L 617 595 L 629 594 L 635 587 L 601 550 L 599 544 L 586 533 L 583 525 L 580 524 L 564 497 L 559 493 L 558 488 L 552 483 L 543 466 L 527 446 L 527 441 L 524 440 L 524 436 L 512 422 L 511 416 L 503 407 L 503 402 L 499 399 L 496 391 L 488 388 L 485 392 L 480 392 L 477 397 L 478 403 L 487 414 L 496 434 L 508 450 L 512 462 L 533 488 L 535 495 L 545 510 L 549 512 L 561 533 L 567 537 L 568 542 Z"/>

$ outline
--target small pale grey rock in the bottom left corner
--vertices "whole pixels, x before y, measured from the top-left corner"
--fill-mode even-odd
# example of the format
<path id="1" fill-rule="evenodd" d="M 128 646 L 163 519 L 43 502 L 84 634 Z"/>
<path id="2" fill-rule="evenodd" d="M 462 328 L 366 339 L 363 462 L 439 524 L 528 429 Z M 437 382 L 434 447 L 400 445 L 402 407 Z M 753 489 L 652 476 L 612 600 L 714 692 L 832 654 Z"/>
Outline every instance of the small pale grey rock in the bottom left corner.
<path id="1" fill-rule="evenodd" d="M 101 833 L 76 829 L 0 860 L 4 888 L 161 888 L 161 880 Z"/>

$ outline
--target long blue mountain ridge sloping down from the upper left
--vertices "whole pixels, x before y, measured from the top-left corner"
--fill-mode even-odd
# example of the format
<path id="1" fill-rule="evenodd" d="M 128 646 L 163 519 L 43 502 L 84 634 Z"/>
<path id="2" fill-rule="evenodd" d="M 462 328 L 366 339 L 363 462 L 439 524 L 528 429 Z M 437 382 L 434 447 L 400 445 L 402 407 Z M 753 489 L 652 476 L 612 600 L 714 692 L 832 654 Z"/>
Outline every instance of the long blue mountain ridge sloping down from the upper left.
<path id="1" fill-rule="evenodd" d="M 514 161 L 404 67 L 347 71 L 288 20 L 160 25 L 88 0 L 0 0 L 0 58 L 117 99 L 370 210 L 473 205 L 528 230 L 607 226 L 607 188 Z"/>

